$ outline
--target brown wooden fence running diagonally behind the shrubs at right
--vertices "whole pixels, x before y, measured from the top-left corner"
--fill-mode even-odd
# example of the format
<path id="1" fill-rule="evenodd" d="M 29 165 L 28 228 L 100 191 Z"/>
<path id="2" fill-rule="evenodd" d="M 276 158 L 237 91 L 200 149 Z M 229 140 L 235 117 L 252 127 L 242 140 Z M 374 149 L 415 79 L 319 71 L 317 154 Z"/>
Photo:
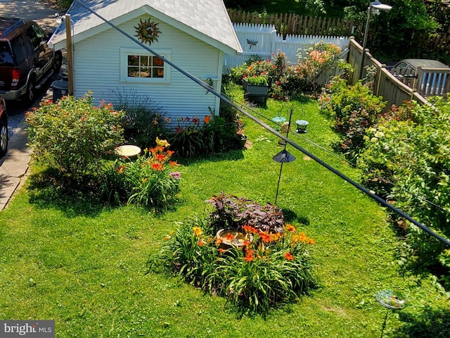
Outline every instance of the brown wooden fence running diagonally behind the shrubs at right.
<path id="1" fill-rule="evenodd" d="M 355 84 L 359 80 L 358 75 L 361 67 L 362 50 L 362 46 L 358 44 L 353 37 L 350 37 L 347 61 L 354 68 L 353 76 L 349 81 L 351 84 Z M 412 89 L 399 81 L 397 77 L 394 77 L 394 75 L 387 70 L 386 65 L 383 65 L 377 59 L 373 58 L 367 50 L 366 55 L 364 56 L 364 66 L 366 65 L 375 66 L 377 70 L 377 75 L 373 81 L 373 94 L 376 96 L 383 96 L 383 99 L 387 101 L 385 111 L 388 111 L 393 104 L 401 106 L 404 101 L 414 100 L 417 101 L 418 104 L 428 104 L 427 99 L 421 96 L 416 89 Z M 363 77 L 365 76 L 364 70 Z"/>

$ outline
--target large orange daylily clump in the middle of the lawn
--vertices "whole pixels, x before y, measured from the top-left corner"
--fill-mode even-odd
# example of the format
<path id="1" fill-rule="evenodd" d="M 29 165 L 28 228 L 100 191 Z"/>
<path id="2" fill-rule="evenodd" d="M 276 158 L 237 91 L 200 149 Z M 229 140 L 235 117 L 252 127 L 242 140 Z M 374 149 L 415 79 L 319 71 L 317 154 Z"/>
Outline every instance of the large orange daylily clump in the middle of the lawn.
<path id="1" fill-rule="evenodd" d="M 226 204 L 233 200 L 228 199 Z M 212 201 L 219 207 L 221 202 Z M 259 210 L 249 213 L 254 214 L 249 219 L 261 217 Z M 283 224 L 281 231 L 275 232 L 263 230 L 265 227 L 258 224 L 243 225 L 239 245 L 226 246 L 225 241 L 234 243 L 236 236 L 229 233 L 226 239 L 216 237 L 217 224 L 226 221 L 210 217 L 186 220 L 165 237 L 160 252 L 150 256 L 149 271 L 169 269 L 195 287 L 225 296 L 238 311 L 263 315 L 276 304 L 295 301 L 316 286 L 308 253 L 314 240 L 293 225 Z"/>

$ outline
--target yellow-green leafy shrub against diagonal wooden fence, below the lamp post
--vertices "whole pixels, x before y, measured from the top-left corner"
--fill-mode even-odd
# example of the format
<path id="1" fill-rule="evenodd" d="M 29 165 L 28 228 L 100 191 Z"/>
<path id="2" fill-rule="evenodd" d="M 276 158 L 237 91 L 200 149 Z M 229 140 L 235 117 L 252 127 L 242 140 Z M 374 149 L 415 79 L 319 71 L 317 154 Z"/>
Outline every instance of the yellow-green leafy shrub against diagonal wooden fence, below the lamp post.
<path id="1" fill-rule="evenodd" d="M 348 86 L 340 77 L 334 77 L 319 97 L 320 111 L 335 120 L 335 130 L 342 134 L 338 149 L 350 159 L 357 158 L 366 130 L 385 106 L 383 97 L 373 95 L 369 87 L 361 82 Z"/>

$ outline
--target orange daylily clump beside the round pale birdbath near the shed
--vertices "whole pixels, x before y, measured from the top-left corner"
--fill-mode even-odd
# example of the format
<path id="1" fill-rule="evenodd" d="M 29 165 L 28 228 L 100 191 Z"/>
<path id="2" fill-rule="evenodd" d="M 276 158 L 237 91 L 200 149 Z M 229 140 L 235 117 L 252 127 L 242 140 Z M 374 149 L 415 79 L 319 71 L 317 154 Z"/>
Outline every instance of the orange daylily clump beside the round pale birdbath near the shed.
<path id="1" fill-rule="evenodd" d="M 144 149 L 134 161 L 115 161 L 103 176 L 103 198 L 160 210 L 171 208 L 179 192 L 181 173 L 171 170 L 179 165 L 169 160 L 174 151 L 168 146 L 167 141 L 157 138 L 156 146 Z"/>

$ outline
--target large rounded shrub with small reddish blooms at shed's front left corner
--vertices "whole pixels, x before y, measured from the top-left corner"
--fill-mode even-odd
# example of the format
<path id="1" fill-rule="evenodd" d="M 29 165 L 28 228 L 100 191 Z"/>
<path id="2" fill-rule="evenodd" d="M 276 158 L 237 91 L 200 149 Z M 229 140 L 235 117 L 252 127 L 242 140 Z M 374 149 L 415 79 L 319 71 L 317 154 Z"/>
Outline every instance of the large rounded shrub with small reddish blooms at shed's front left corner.
<path id="1" fill-rule="evenodd" d="M 92 106 L 89 95 L 43 101 L 26 115 L 32 158 L 74 181 L 97 175 L 123 142 L 123 116 L 112 104 Z"/>

